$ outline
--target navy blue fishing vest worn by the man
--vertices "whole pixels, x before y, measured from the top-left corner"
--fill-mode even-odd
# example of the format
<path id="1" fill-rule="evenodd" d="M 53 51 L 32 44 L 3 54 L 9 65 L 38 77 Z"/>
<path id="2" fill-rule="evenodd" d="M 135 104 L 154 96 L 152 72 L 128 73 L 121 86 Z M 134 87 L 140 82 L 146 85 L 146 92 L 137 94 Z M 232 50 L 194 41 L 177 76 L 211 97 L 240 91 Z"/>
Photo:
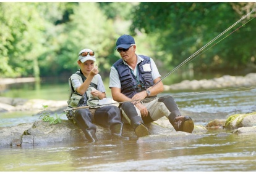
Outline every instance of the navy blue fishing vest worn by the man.
<path id="1" fill-rule="evenodd" d="M 151 64 L 150 57 L 145 55 L 139 55 L 144 60 L 141 61 L 137 66 L 137 77 L 134 76 L 132 70 L 129 66 L 124 64 L 122 59 L 116 61 L 113 64 L 114 68 L 116 68 L 119 79 L 121 82 L 121 93 L 126 95 L 129 98 L 132 98 L 136 93 L 142 92 L 145 89 L 148 89 L 153 85 L 153 78 L 151 76 Z M 149 64 L 150 69 L 144 71 L 143 65 Z"/>

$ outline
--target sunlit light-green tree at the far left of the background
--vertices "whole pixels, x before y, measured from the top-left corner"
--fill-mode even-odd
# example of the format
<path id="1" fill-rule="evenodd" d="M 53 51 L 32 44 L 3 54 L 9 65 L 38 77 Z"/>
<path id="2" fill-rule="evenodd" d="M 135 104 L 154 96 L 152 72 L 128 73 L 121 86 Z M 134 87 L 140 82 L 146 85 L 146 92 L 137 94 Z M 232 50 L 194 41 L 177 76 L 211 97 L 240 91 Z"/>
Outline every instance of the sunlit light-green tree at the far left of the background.
<path id="1" fill-rule="evenodd" d="M 1 76 L 39 78 L 38 57 L 47 50 L 45 32 L 52 26 L 40 9 L 50 6 L 41 2 L 0 3 Z"/>

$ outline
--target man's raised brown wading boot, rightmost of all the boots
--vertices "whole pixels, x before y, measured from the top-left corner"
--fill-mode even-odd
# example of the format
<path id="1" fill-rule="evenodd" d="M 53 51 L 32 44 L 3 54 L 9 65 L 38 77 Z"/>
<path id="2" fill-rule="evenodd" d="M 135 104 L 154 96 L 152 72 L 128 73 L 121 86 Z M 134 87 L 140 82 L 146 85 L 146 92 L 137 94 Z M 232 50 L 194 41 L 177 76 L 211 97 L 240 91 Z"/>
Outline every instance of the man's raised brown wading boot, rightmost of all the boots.
<path id="1" fill-rule="evenodd" d="M 194 130 L 194 122 L 189 116 L 178 116 L 171 124 L 176 131 L 192 133 Z"/>

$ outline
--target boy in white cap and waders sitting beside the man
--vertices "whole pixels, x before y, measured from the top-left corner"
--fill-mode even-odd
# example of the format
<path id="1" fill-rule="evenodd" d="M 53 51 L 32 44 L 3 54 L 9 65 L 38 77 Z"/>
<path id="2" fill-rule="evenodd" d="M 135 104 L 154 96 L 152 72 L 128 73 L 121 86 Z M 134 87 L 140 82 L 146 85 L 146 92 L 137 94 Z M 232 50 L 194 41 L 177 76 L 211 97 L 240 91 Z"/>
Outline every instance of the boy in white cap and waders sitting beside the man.
<path id="1" fill-rule="evenodd" d="M 70 77 L 74 94 L 68 101 L 69 106 L 90 106 L 94 105 L 92 101 L 106 98 L 105 87 L 100 74 L 98 74 L 98 66 L 94 65 L 95 61 L 93 50 L 83 49 L 79 52 L 77 63 L 80 69 Z M 92 121 L 100 125 L 109 125 L 112 139 L 129 140 L 129 137 L 122 136 L 123 123 L 120 109 L 117 106 L 97 107 L 96 109 L 90 109 L 90 111 L 87 108 L 77 109 L 73 119 L 85 133 L 88 142 L 97 141 L 96 126 L 92 124 Z"/>

